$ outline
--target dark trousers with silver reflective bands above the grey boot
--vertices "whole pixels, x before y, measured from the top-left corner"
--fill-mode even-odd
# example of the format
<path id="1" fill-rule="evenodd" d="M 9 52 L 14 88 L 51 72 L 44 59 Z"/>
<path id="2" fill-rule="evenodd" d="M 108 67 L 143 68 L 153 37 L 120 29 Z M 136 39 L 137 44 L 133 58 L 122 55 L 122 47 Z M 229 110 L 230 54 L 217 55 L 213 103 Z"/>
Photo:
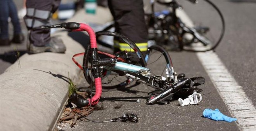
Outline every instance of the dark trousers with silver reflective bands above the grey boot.
<path id="1" fill-rule="evenodd" d="M 50 25 L 51 14 L 60 3 L 61 0 L 26 0 L 27 14 L 24 21 L 30 30 L 30 44 L 40 47 L 50 41 L 50 29 L 41 29 L 41 26 Z"/>

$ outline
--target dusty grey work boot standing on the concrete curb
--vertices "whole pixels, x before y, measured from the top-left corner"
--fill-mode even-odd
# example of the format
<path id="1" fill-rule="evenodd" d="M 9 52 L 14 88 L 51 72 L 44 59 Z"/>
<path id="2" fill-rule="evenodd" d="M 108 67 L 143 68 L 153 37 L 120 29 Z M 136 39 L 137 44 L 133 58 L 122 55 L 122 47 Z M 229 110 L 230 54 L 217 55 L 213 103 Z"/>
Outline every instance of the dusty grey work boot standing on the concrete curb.
<path id="1" fill-rule="evenodd" d="M 36 54 L 42 52 L 54 52 L 54 53 L 64 53 L 66 51 L 66 46 L 63 44 L 61 39 L 52 37 L 50 42 L 44 46 L 35 46 L 30 44 L 28 46 L 29 54 Z"/>

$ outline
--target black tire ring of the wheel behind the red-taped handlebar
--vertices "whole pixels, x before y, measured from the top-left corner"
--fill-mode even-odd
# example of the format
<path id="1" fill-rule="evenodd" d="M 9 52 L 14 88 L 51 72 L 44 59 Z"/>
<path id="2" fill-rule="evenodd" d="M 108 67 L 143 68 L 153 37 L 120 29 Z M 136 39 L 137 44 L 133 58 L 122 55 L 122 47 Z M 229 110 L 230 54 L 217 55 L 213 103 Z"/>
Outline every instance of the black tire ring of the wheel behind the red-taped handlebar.
<path id="1" fill-rule="evenodd" d="M 139 58 L 140 61 L 140 66 L 142 67 L 146 67 L 146 62 L 145 62 L 145 58 L 144 55 L 142 54 L 142 52 L 139 50 L 139 48 L 137 47 L 137 45 L 132 42 L 130 39 L 126 38 L 125 36 L 118 34 L 116 32 L 109 32 L 109 31 L 100 31 L 100 32 L 96 32 L 96 35 L 110 35 L 110 36 L 115 36 L 115 37 L 121 37 L 128 45 L 130 45 L 130 47 L 132 47 L 132 49 L 134 50 L 134 52 L 136 52 L 137 57 Z M 100 52 L 98 52 L 99 55 L 101 54 Z M 113 55 L 114 56 L 114 55 Z M 106 54 L 101 54 L 101 57 L 109 57 Z M 90 59 L 90 47 L 88 47 L 88 49 L 85 51 L 85 55 L 83 57 L 83 69 L 84 69 L 84 76 L 86 81 L 89 84 L 92 84 L 92 77 L 91 74 L 89 72 L 89 66 L 88 66 L 88 62 Z M 103 77 L 104 79 L 104 77 Z M 132 81 L 131 79 L 126 78 L 124 81 L 121 81 L 119 84 L 115 84 L 115 85 L 111 85 L 111 86 L 104 86 L 104 84 L 102 84 L 102 89 L 115 89 L 118 87 L 125 87 L 128 84 L 130 84 Z"/>

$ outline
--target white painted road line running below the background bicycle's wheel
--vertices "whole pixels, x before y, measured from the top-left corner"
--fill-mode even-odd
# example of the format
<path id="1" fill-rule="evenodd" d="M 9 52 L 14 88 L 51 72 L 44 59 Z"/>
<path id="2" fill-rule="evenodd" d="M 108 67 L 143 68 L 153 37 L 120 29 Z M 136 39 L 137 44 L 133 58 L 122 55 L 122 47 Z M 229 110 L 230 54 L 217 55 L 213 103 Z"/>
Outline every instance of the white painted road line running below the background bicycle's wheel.
<path id="1" fill-rule="evenodd" d="M 242 131 L 256 131 L 256 109 L 217 54 L 198 52 L 197 57 Z"/>

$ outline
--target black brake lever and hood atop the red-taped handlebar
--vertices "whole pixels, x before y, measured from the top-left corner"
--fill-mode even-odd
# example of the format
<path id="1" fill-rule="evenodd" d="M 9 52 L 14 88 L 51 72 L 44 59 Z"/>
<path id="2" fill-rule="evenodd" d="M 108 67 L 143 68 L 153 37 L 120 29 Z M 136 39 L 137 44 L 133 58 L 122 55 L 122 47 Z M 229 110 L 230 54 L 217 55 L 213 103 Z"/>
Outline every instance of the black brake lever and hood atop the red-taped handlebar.
<path id="1" fill-rule="evenodd" d="M 51 28 L 65 28 L 69 30 L 75 30 L 80 28 L 80 24 L 76 22 L 63 22 L 61 24 L 56 24 L 56 25 L 44 25 L 41 26 L 42 29 L 51 29 Z"/>

